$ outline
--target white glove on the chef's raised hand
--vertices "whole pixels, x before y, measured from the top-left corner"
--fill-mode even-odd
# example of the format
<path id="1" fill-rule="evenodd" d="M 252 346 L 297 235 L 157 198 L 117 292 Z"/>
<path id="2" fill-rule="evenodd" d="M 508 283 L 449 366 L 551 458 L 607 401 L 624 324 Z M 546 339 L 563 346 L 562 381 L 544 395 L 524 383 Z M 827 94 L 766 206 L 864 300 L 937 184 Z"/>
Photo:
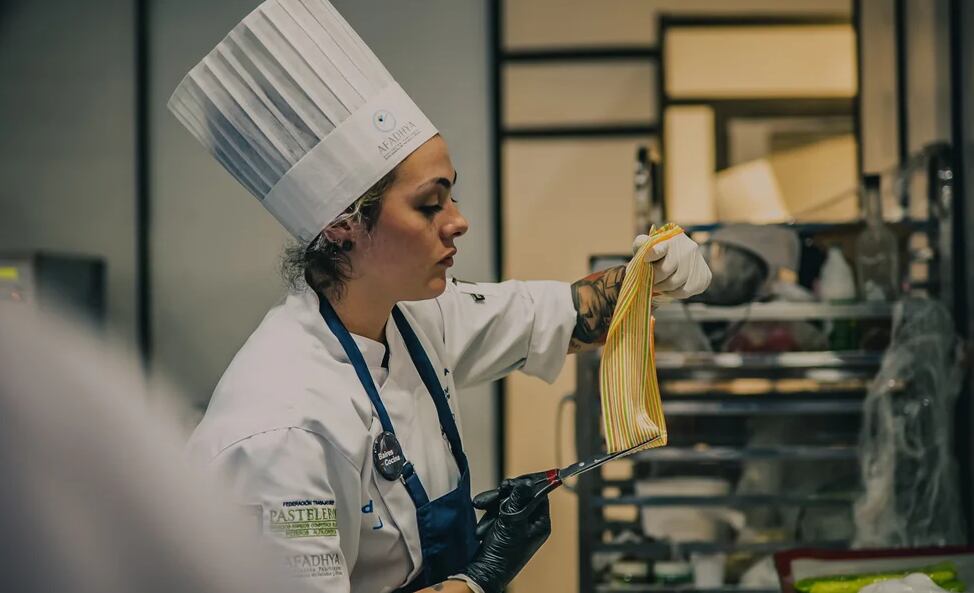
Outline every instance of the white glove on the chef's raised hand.
<path id="1" fill-rule="evenodd" d="M 648 235 L 636 237 L 633 255 L 648 240 Z M 710 286 L 710 267 L 700 255 L 700 246 L 685 233 L 654 245 L 646 252 L 646 263 L 653 264 L 653 292 L 664 297 L 685 299 Z"/>

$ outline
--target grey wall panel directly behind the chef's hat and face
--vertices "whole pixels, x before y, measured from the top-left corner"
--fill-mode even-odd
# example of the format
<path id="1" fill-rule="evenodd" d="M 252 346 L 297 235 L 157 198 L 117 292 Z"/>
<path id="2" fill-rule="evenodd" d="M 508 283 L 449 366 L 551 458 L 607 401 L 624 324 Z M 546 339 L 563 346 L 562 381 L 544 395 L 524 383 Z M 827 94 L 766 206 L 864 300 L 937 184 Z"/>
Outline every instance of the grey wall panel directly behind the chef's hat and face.
<path id="1" fill-rule="evenodd" d="M 285 233 L 167 112 L 180 78 L 257 0 L 153 4 L 152 178 L 155 365 L 205 403 L 234 352 L 283 294 Z M 335 0 L 450 145 L 471 230 L 460 278 L 494 278 L 489 42 L 481 0 Z M 493 391 L 462 394 L 474 488 L 495 482 Z"/>

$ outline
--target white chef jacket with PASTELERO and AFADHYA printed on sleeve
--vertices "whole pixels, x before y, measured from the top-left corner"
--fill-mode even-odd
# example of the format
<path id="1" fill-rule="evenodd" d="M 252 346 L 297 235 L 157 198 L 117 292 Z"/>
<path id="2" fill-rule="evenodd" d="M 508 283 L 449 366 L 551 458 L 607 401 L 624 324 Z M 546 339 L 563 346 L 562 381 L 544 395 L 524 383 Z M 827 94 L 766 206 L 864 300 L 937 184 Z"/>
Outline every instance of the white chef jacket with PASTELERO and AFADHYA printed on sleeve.
<path id="1" fill-rule="evenodd" d="M 399 304 L 461 430 L 457 388 L 520 369 L 552 382 L 575 327 L 569 285 L 447 282 L 436 299 Z M 406 458 L 430 500 L 459 471 L 436 408 L 394 321 L 385 346 L 353 336 Z M 273 308 L 237 353 L 190 439 L 230 482 L 236 504 L 279 545 L 289 571 L 329 593 L 393 591 L 422 565 L 416 507 L 373 468 L 382 432 L 372 403 L 310 290 Z"/>

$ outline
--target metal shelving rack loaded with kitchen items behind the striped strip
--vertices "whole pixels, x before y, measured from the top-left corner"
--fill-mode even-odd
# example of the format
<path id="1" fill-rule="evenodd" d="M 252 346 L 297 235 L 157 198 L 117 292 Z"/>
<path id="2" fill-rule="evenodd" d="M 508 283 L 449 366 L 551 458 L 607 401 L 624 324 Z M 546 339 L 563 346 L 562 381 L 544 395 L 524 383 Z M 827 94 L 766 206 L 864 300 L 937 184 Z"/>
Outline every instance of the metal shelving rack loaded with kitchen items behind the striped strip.
<path id="1" fill-rule="evenodd" d="M 953 195 L 952 154 L 949 147 L 937 146 L 925 155 L 921 169 L 927 176 L 931 218 L 907 220 L 897 223 L 909 233 L 928 237 L 932 252 L 917 254 L 912 263 L 923 263 L 927 268 L 926 282 L 914 284 L 915 288 L 940 298 L 948 308 L 956 302 L 954 283 L 951 281 L 954 261 L 950 245 L 954 240 L 955 220 L 951 213 Z M 854 224 L 802 224 L 792 225 L 800 235 L 814 235 L 826 231 L 854 231 Z M 708 232 L 713 227 L 688 229 L 688 232 Z M 602 264 L 612 256 L 595 256 L 591 264 Z M 727 323 L 744 321 L 811 321 L 827 322 L 856 320 L 864 323 L 890 323 L 900 315 L 899 304 L 856 303 L 829 305 L 822 303 L 751 303 L 737 307 L 713 307 L 701 304 L 667 304 L 655 311 L 657 323 L 693 321 L 700 323 Z M 662 386 L 664 411 L 668 422 L 682 420 L 694 422 L 700 419 L 742 420 L 758 417 L 820 417 L 836 419 L 835 426 L 853 427 L 853 433 L 828 432 L 815 434 L 810 430 L 808 443 L 749 444 L 747 442 L 680 442 L 677 431 L 670 431 L 671 444 L 665 448 L 643 451 L 629 459 L 633 467 L 697 466 L 731 467 L 743 463 L 848 463 L 855 468 L 858 461 L 857 428 L 862 403 L 869 381 L 882 363 L 881 351 L 820 351 L 787 353 L 710 353 L 710 352 L 657 352 L 656 369 Z M 577 365 L 576 449 L 581 459 L 602 451 L 599 426 L 601 411 L 598 398 L 599 353 L 579 355 Z M 760 378 L 767 383 L 764 393 L 733 394 L 721 387 L 722 383 L 735 378 Z M 804 389 L 782 389 L 778 381 L 804 379 Z M 681 391 L 668 393 L 666 384 L 673 381 L 691 381 L 704 385 L 702 391 L 689 394 Z M 814 384 L 809 387 L 807 382 Z M 709 383 L 709 386 L 708 386 Z M 721 435 L 726 437 L 726 435 Z M 740 435 L 737 435 L 740 436 Z M 719 441 L 720 439 L 718 439 Z M 726 438 L 724 438 L 726 441 Z M 611 478 L 602 472 L 583 474 L 575 488 L 579 496 L 579 553 L 580 591 L 600 593 L 765 593 L 761 589 L 748 589 L 725 585 L 716 589 L 699 589 L 691 585 L 666 586 L 618 585 L 602 581 L 596 573 L 593 558 L 599 554 L 624 554 L 646 560 L 665 560 L 674 549 L 683 556 L 693 552 L 724 552 L 772 554 L 776 551 L 802 547 L 842 548 L 849 542 L 842 540 L 793 539 L 791 541 L 730 543 L 725 541 L 699 541 L 674 545 L 666 541 L 638 543 L 614 543 L 611 536 L 624 530 L 641 532 L 639 520 L 609 520 L 605 511 L 614 507 L 659 509 L 674 506 L 730 507 L 737 509 L 791 508 L 804 512 L 812 509 L 849 508 L 855 498 L 854 491 L 842 493 L 820 492 L 815 494 L 747 493 L 721 496 L 639 496 L 635 493 L 637 475 L 628 479 Z M 645 475 L 645 474 L 644 474 Z M 853 474 L 854 475 L 854 474 Z M 797 535 L 797 534 L 796 534 Z M 770 591 L 768 592 L 770 593 Z"/>

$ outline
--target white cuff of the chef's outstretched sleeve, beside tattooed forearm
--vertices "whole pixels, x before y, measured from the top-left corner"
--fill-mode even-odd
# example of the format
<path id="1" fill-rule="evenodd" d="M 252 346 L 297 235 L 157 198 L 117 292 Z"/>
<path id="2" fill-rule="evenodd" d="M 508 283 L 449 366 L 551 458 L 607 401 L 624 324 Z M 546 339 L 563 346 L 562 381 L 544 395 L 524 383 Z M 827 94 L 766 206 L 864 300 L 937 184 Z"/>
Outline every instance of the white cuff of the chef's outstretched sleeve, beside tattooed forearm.
<path id="1" fill-rule="evenodd" d="M 522 371 L 554 383 L 565 366 L 577 313 L 571 286 L 565 282 L 524 282 L 534 308 L 531 341 Z"/>

